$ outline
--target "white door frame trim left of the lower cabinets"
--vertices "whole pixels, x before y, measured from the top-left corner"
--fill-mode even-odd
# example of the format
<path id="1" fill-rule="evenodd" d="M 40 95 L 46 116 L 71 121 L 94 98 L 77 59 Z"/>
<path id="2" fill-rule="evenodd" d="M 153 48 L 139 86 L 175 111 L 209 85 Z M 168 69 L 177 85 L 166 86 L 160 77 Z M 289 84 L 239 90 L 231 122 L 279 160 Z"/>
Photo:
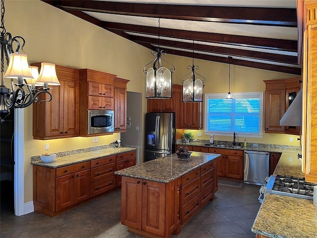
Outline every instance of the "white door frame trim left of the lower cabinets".
<path id="1" fill-rule="evenodd" d="M 24 214 L 24 108 L 14 109 L 14 215 Z"/>

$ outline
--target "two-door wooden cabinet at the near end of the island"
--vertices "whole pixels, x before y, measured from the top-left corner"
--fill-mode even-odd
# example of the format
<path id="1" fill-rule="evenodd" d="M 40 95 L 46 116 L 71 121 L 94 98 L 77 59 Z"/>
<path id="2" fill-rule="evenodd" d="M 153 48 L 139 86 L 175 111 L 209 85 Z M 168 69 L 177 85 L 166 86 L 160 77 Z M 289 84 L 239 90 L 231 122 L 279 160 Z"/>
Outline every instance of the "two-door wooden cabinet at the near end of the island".
<path id="1" fill-rule="evenodd" d="M 170 237 L 177 229 L 177 179 L 168 183 L 122 178 L 121 223 L 146 237 Z"/>

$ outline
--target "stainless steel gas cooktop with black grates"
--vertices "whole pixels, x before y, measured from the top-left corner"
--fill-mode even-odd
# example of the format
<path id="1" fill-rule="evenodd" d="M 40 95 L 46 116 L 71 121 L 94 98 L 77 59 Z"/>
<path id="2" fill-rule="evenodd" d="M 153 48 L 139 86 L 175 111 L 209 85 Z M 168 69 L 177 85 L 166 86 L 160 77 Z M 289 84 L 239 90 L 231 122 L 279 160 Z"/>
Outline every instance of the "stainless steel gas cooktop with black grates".
<path id="1" fill-rule="evenodd" d="M 314 186 L 317 183 L 306 182 L 305 178 L 272 175 L 266 180 L 267 185 L 261 186 L 259 201 L 262 203 L 266 193 L 305 198 L 313 200 Z"/>

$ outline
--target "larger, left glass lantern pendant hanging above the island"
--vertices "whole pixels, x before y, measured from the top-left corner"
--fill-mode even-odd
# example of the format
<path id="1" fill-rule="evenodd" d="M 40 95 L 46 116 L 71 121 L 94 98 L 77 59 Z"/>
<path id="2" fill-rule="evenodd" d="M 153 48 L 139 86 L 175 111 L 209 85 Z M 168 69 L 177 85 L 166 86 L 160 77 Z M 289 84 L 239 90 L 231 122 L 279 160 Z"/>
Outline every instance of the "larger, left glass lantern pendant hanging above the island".
<path id="1" fill-rule="evenodd" d="M 160 27 L 160 19 L 159 19 Z M 160 33 L 160 32 L 159 32 Z M 146 74 L 146 98 L 164 99 L 172 97 L 172 73 L 175 71 L 175 67 L 170 62 L 163 60 L 162 55 L 166 55 L 166 51 L 158 48 L 152 51 L 152 55 L 156 56 L 154 60 L 149 62 L 143 67 L 143 72 Z M 171 65 L 168 69 L 162 66 L 162 62 L 166 62 Z M 153 67 L 147 68 L 148 65 Z"/>

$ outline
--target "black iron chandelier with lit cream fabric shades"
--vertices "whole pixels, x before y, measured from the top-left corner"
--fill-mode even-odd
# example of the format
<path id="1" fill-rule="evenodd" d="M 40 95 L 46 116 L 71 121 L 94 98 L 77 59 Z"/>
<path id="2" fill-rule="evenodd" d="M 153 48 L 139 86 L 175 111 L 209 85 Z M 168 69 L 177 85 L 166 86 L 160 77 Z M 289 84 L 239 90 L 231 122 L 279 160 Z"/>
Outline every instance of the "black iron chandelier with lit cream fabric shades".
<path id="1" fill-rule="evenodd" d="M 25 40 L 21 36 L 12 37 L 4 27 L 4 0 L 1 0 L 1 26 L 0 26 L 0 52 L 1 52 L 1 84 L 0 84 L 0 122 L 10 114 L 10 109 L 26 108 L 38 101 L 41 93 L 50 96 L 44 102 L 50 102 L 53 97 L 48 90 L 49 85 L 60 85 L 55 71 L 55 65 L 51 63 L 41 64 L 38 68 L 29 68 L 27 55 L 19 54 L 23 51 Z M 13 49 L 13 44 L 16 46 Z M 4 57 L 8 68 L 4 73 Z M 32 72 L 31 72 L 32 70 Z M 37 72 L 36 72 L 37 71 Z M 4 78 L 9 78 L 11 89 L 4 85 Z M 40 86 L 36 88 L 36 86 Z M 41 101 L 42 102 L 42 101 Z M 40 103 L 41 103 L 40 102 Z"/>

